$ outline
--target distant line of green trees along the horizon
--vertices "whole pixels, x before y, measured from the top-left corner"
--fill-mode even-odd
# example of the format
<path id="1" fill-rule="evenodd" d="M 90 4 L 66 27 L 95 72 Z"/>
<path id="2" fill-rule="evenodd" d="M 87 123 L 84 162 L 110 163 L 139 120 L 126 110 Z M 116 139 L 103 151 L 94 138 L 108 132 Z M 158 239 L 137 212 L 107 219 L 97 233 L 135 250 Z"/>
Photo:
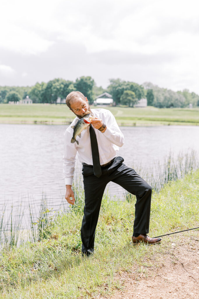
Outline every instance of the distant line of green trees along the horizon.
<path id="1" fill-rule="evenodd" d="M 139 85 L 135 82 L 121 79 L 110 79 L 107 89 L 96 86 L 92 77 L 80 77 L 74 82 L 56 78 L 49 82 L 36 83 L 34 86 L 0 86 L 0 103 L 19 101 L 28 95 L 33 103 L 56 103 L 58 97 L 65 99 L 71 91 L 81 91 L 92 104 L 96 97 L 104 92 L 112 95 L 115 105 L 132 107 L 138 100 L 147 99 L 148 106 L 158 108 L 193 107 L 199 106 L 199 96 L 189 90 L 172 91 L 160 88 L 152 83 L 145 82 Z"/>

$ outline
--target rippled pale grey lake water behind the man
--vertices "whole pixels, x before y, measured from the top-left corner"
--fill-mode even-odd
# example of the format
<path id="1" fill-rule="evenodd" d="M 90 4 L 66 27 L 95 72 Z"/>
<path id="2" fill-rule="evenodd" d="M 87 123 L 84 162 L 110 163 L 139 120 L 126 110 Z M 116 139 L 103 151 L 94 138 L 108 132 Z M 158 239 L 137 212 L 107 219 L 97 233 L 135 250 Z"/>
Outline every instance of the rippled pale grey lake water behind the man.
<path id="1" fill-rule="evenodd" d="M 64 200 L 63 143 L 65 125 L 0 124 L 0 210 L 25 202 L 40 202 L 42 193 L 56 209 Z M 199 126 L 121 127 L 125 144 L 118 155 L 124 163 L 147 170 L 171 151 L 174 155 L 199 152 Z M 81 164 L 77 163 L 81 176 Z M 122 198 L 124 190 L 110 183 L 111 195 Z"/>

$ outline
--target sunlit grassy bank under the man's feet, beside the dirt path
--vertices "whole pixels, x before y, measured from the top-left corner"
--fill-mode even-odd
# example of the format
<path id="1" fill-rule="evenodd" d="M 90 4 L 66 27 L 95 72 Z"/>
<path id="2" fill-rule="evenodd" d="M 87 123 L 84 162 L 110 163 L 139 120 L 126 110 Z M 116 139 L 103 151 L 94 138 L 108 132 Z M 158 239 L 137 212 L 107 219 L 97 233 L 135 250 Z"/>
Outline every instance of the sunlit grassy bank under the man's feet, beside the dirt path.
<path id="1" fill-rule="evenodd" d="M 198 193 L 199 171 L 153 193 L 150 235 L 198 226 Z M 104 196 L 95 253 L 88 259 L 81 257 L 81 202 L 70 213 L 59 214 L 47 228 L 47 239 L 2 252 L 0 298 L 99 298 L 120 289 L 118 273 L 132 271 L 133 265 L 139 273 L 143 258 L 153 256 L 155 264 L 156 254 L 163 258 L 172 242 L 165 237 L 155 246 L 132 246 L 134 212 L 134 197 L 116 202 Z"/>

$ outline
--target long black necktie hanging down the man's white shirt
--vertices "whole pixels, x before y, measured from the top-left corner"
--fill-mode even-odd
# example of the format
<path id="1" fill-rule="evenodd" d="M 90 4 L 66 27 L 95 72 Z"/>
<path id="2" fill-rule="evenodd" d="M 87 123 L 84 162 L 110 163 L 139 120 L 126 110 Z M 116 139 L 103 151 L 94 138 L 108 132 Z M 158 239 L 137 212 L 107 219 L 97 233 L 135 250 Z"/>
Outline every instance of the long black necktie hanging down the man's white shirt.
<path id="1" fill-rule="evenodd" d="M 101 171 L 100 160 L 99 160 L 98 141 L 92 126 L 90 126 L 89 132 L 90 132 L 93 171 L 94 171 L 94 175 L 99 178 L 102 175 L 102 171 Z"/>

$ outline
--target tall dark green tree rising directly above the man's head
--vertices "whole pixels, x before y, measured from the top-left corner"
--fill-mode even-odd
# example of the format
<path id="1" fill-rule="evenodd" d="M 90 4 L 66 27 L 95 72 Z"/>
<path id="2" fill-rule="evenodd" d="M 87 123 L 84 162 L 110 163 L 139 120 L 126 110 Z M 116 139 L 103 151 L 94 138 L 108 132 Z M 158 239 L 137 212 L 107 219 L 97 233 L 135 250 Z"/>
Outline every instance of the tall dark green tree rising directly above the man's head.
<path id="1" fill-rule="evenodd" d="M 87 97 L 89 103 L 93 102 L 93 87 L 95 85 L 95 81 L 91 77 L 80 77 L 77 78 L 74 84 L 74 87 L 77 91 L 80 91 Z"/>

